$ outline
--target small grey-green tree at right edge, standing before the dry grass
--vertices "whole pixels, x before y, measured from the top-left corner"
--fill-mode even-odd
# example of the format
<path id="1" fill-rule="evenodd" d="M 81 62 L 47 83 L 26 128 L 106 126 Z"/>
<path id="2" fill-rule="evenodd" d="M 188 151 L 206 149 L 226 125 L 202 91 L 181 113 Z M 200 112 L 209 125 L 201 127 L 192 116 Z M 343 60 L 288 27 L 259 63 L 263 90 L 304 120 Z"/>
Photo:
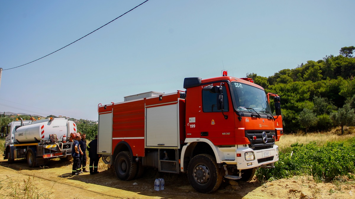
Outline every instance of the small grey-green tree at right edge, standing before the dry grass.
<path id="1" fill-rule="evenodd" d="M 344 134 L 344 126 L 354 125 L 354 109 L 351 109 L 350 104 L 344 104 L 343 108 L 331 114 L 331 118 L 335 125 L 342 127 L 342 134 Z"/>

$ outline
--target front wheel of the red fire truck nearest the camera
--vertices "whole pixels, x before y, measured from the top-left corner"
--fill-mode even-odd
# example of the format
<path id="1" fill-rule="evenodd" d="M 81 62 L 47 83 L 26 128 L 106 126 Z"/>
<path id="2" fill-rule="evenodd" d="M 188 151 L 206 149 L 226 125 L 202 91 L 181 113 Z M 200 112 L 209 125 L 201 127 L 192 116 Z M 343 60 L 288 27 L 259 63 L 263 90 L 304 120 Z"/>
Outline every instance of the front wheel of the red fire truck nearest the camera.
<path id="1" fill-rule="evenodd" d="M 211 193 L 222 183 L 222 175 L 212 155 L 200 154 L 193 157 L 187 167 L 191 186 L 201 193 Z"/>

